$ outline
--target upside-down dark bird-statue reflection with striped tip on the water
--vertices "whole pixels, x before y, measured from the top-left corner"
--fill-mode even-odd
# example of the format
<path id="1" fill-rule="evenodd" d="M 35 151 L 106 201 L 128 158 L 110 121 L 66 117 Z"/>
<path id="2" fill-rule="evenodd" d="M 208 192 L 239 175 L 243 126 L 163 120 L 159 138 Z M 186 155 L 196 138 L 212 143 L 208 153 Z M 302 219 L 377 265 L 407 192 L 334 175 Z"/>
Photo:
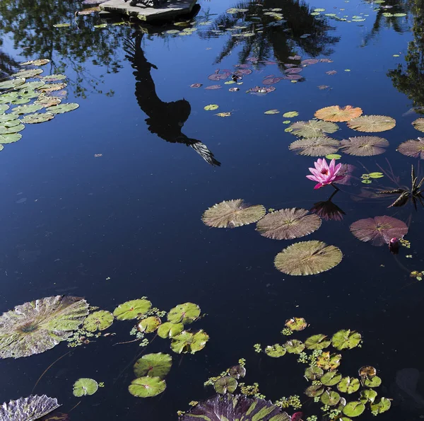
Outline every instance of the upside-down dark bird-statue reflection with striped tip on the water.
<path id="1" fill-rule="evenodd" d="M 207 163 L 220 166 L 208 147 L 199 140 L 187 137 L 182 133 L 184 122 L 189 118 L 192 108 L 185 100 L 165 103 L 158 97 L 155 82 L 151 76 L 151 69 L 158 69 L 147 61 L 141 47 L 143 33 L 136 32 L 134 40 L 125 40 L 126 58 L 131 62 L 136 76 L 136 98 L 141 110 L 148 116 L 146 123 L 148 130 L 161 139 L 171 143 L 182 143 L 194 149 Z"/>

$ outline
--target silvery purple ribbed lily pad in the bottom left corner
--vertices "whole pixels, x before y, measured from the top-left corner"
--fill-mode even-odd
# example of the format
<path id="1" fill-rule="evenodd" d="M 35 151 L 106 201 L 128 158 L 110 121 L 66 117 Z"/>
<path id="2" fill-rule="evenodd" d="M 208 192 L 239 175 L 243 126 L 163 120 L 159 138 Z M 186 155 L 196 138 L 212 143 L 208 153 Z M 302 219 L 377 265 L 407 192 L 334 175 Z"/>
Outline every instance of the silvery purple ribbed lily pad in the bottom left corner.
<path id="1" fill-rule="evenodd" d="M 0 406 L 0 420 L 34 421 L 59 408 L 56 398 L 30 395 L 28 398 L 10 400 Z"/>

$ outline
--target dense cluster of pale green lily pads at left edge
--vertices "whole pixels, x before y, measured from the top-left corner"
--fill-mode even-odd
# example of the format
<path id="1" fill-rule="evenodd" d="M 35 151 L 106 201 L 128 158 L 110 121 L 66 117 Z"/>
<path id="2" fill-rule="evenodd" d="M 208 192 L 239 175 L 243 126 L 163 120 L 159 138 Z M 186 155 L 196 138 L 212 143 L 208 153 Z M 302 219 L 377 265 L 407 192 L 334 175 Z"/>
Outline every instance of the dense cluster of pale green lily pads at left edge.
<path id="1" fill-rule="evenodd" d="M 42 75 L 40 67 L 48 63 L 48 59 L 22 63 L 23 69 L 0 82 L 0 150 L 20 140 L 26 124 L 47 122 L 78 108 L 76 103 L 61 103 L 66 98 L 64 74 Z"/>

